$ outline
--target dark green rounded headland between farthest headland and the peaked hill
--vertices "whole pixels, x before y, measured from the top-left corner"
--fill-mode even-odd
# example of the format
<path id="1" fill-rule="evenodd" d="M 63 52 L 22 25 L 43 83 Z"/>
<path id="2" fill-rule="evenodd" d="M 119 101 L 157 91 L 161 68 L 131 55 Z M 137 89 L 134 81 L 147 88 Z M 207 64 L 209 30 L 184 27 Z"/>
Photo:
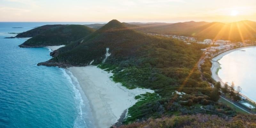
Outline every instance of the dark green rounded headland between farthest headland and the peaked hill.
<path id="1" fill-rule="evenodd" d="M 64 25 L 57 26 L 45 30 L 39 35 L 36 35 L 23 44 L 20 47 L 44 47 L 54 45 L 67 45 L 70 42 L 77 41 L 95 30 L 84 25 Z"/>

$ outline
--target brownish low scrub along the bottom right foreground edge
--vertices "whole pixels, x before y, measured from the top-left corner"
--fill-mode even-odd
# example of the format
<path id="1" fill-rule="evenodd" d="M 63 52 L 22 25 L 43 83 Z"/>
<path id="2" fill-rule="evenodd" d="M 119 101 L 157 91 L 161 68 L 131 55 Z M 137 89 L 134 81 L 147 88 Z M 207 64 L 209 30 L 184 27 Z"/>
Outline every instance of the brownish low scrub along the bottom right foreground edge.
<path id="1" fill-rule="evenodd" d="M 216 115 L 171 116 L 149 118 L 119 128 L 255 128 L 255 115 L 238 115 L 234 118 Z M 115 126 L 113 126 L 115 127 Z"/>

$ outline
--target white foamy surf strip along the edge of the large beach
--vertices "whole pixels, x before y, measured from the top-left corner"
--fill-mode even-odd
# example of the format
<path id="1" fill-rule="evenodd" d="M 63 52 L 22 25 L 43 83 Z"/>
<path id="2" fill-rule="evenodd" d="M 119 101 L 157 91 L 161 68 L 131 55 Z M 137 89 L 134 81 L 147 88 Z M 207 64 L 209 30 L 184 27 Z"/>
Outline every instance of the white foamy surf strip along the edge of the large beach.
<path id="1" fill-rule="evenodd" d="M 93 126 L 93 120 L 91 108 L 89 106 L 89 101 L 85 96 L 84 92 L 82 91 L 79 82 L 77 81 L 76 77 L 73 74 L 63 68 L 60 68 L 63 71 L 64 76 L 70 81 L 72 84 L 73 92 L 74 92 L 74 99 L 76 102 L 76 109 L 77 109 L 77 117 L 74 122 L 74 128 L 91 128 Z"/>

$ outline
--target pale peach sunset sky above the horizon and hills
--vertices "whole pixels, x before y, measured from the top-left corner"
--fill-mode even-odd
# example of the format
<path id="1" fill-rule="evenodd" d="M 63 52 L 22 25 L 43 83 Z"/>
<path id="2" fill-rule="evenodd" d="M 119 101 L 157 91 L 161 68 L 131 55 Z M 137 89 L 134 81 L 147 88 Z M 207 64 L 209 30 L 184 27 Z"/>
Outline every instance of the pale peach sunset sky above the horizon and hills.
<path id="1" fill-rule="evenodd" d="M 256 0 L 0 0 L 0 21 L 256 21 Z"/>

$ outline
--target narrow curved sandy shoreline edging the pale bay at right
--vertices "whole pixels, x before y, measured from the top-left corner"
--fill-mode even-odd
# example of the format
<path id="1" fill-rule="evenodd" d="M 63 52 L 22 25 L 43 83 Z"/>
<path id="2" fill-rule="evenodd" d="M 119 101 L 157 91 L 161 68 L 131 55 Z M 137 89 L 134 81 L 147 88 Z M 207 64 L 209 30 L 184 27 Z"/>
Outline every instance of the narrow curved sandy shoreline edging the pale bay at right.
<path id="1" fill-rule="evenodd" d="M 252 47 L 256 47 L 256 46 L 248 46 L 248 47 L 241 47 L 241 48 L 236 48 L 236 49 L 232 49 L 232 50 L 229 50 L 229 51 L 227 51 L 227 52 L 223 52 L 223 53 L 221 53 L 220 55 L 218 55 L 218 56 L 216 56 L 216 57 L 214 57 L 213 59 L 212 59 L 212 68 L 211 68 L 211 71 L 212 71 L 212 78 L 215 80 L 215 81 L 219 81 L 220 82 L 220 84 L 222 85 L 222 86 L 224 86 L 224 84 L 225 84 L 225 82 L 224 81 L 222 81 L 222 79 L 218 76 L 218 74 L 216 73 L 217 72 L 217 70 L 219 69 L 219 68 L 221 68 L 220 67 L 220 63 L 218 62 L 223 56 L 225 56 L 225 55 L 227 55 L 227 54 L 229 54 L 229 53 L 231 53 L 231 52 L 234 52 L 234 51 L 237 51 L 237 50 L 240 50 L 240 49 L 245 49 L 245 48 L 252 48 Z M 241 96 L 243 96 L 244 98 L 246 98 L 246 99 L 248 99 L 248 100 L 251 100 L 251 99 L 249 99 L 248 97 L 246 97 L 244 94 L 242 94 L 242 93 L 240 93 L 241 94 Z M 252 101 L 252 100 L 251 100 Z"/>

